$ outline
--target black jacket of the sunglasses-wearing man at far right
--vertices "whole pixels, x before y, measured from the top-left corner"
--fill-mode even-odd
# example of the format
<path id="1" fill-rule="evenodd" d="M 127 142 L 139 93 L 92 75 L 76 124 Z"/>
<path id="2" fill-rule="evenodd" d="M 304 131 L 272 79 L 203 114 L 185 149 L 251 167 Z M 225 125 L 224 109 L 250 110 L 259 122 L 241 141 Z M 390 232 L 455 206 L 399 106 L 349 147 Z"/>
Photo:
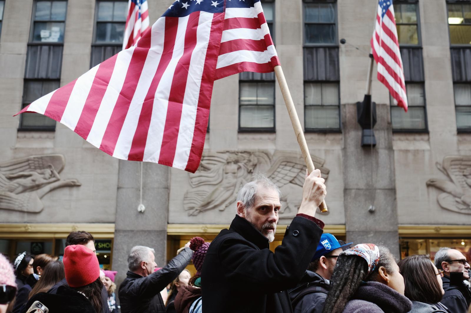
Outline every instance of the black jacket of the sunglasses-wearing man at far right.
<path id="1" fill-rule="evenodd" d="M 440 301 L 452 313 L 466 313 L 471 303 L 471 292 L 463 282 L 462 286 L 450 286 L 450 277 L 443 276 L 443 290 L 445 294 Z"/>

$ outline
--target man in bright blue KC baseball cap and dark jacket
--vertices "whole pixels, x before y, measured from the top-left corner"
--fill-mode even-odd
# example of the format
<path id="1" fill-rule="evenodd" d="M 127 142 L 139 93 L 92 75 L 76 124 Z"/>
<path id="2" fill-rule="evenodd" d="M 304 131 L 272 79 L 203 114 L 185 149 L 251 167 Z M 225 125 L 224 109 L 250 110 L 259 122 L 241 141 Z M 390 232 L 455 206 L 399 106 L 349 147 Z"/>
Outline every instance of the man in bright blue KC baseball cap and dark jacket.
<path id="1" fill-rule="evenodd" d="M 316 253 L 309 263 L 296 288 L 289 290 L 294 313 L 321 313 L 330 290 L 330 278 L 342 248 L 352 243 L 341 244 L 332 234 L 322 234 Z"/>

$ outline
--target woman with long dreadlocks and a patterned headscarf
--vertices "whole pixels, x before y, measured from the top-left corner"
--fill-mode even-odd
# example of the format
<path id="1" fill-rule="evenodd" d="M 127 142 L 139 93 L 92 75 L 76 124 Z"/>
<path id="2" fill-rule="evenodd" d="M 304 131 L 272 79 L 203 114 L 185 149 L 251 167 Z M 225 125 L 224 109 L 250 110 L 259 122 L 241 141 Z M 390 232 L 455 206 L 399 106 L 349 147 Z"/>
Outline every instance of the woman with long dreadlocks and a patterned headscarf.
<path id="1" fill-rule="evenodd" d="M 372 243 L 339 255 L 330 285 L 323 313 L 406 313 L 412 307 L 391 252 Z"/>

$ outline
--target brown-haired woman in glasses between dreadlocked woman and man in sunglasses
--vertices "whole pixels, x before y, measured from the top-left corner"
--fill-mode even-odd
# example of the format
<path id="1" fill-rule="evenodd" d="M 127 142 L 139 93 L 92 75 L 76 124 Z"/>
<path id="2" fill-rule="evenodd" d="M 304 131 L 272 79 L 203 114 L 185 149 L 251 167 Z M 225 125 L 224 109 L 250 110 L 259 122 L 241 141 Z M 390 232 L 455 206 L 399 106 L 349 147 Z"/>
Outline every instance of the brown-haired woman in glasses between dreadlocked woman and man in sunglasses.
<path id="1" fill-rule="evenodd" d="M 443 270 L 437 269 L 428 255 L 412 255 L 398 263 L 404 277 L 404 296 L 412 301 L 409 313 L 449 313 L 440 303 L 443 290 Z"/>

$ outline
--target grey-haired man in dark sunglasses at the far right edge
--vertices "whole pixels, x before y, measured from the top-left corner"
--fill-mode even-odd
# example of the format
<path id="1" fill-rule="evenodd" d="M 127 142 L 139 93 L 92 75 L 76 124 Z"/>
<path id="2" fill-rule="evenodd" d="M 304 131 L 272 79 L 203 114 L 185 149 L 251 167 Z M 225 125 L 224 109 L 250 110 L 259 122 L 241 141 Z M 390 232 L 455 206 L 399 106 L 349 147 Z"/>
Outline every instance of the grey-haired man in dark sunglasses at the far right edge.
<path id="1" fill-rule="evenodd" d="M 471 291 L 464 283 L 470 278 L 468 269 L 470 265 L 466 257 L 458 250 L 440 248 L 435 254 L 435 266 L 443 270 L 443 289 L 445 294 L 441 303 L 446 305 L 450 312 L 466 313 L 471 304 Z M 458 281 L 453 276 L 458 275 Z"/>

